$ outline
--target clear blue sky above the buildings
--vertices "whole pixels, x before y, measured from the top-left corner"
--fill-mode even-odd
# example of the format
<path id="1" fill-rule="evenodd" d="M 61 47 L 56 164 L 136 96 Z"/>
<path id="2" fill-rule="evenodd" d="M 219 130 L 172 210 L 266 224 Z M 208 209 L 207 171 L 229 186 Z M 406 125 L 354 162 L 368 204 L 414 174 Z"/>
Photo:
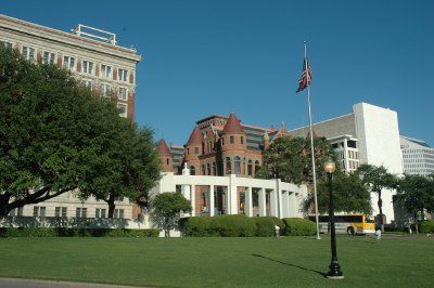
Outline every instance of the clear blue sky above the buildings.
<path id="1" fill-rule="evenodd" d="M 194 122 L 234 112 L 263 127 L 305 126 L 296 94 L 308 41 L 314 121 L 358 102 L 398 113 L 434 145 L 434 1 L 5 1 L 0 13 L 61 30 L 87 24 L 144 56 L 136 119 L 184 144 Z"/>

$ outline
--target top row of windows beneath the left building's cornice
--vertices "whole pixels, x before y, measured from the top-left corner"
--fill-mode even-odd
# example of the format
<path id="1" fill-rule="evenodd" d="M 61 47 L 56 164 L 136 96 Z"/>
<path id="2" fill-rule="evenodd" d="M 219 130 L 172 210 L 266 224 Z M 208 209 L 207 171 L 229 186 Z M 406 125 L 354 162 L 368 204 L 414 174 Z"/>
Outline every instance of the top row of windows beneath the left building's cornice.
<path id="1" fill-rule="evenodd" d="M 3 44 L 7 48 L 12 49 L 13 44 L 0 40 L 0 44 Z M 21 47 L 21 54 L 25 60 L 28 61 L 35 61 L 36 60 L 36 48 L 33 47 L 27 47 L 27 45 L 22 45 Z M 56 64 L 58 63 L 58 57 L 56 53 L 51 52 L 51 51 L 43 51 L 41 53 L 42 56 L 42 63 L 43 64 Z M 75 56 L 71 55 L 63 55 L 62 57 L 62 67 L 65 69 L 71 69 L 73 71 L 78 71 L 78 63 L 81 64 L 81 69 L 84 74 L 88 75 L 97 75 L 97 65 L 94 62 L 88 61 L 88 60 L 82 60 L 81 62 L 78 62 Z M 102 78 L 106 79 L 113 79 L 116 80 L 116 77 L 114 75 L 115 68 L 111 65 L 107 64 L 101 64 L 100 65 L 100 76 Z M 124 68 L 117 68 L 117 80 L 127 82 L 128 81 L 128 70 Z"/>

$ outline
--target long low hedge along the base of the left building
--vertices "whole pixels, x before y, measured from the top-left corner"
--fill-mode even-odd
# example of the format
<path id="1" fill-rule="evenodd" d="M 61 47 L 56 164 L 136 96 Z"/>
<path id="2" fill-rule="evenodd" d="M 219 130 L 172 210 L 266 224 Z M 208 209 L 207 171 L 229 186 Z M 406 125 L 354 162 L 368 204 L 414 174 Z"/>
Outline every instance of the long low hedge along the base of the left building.
<path id="1" fill-rule="evenodd" d="M 158 237 L 158 230 L 0 227 L 0 237 Z"/>

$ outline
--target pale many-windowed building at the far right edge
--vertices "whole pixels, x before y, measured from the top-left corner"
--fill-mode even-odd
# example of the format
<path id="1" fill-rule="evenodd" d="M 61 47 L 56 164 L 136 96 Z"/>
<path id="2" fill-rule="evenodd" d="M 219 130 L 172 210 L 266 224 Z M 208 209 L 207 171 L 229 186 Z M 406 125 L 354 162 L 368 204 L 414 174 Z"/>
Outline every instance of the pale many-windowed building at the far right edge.
<path id="1" fill-rule="evenodd" d="M 406 174 L 429 175 L 434 173 L 434 148 L 424 141 L 401 135 L 400 148 Z"/>

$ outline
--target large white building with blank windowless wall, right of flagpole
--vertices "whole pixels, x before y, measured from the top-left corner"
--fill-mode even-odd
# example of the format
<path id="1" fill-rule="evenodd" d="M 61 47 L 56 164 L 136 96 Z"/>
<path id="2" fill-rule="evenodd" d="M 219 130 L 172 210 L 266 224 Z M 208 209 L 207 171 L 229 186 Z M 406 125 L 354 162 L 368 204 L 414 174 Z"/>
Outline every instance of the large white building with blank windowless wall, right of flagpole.
<path id="1" fill-rule="evenodd" d="M 368 103 L 353 106 L 353 113 L 312 125 L 317 135 L 328 139 L 335 148 L 337 159 L 347 172 L 359 165 L 384 166 L 388 172 L 403 174 L 403 154 L 399 142 L 397 113 Z M 304 136 L 308 127 L 290 131 L 291 135 Z M 393 196 L 395 191 L 382 193 L 383 213 L 386 222 L 395 221 Z M 374 214 L 379 213 L 378 196 L 371 194 Z"/>

